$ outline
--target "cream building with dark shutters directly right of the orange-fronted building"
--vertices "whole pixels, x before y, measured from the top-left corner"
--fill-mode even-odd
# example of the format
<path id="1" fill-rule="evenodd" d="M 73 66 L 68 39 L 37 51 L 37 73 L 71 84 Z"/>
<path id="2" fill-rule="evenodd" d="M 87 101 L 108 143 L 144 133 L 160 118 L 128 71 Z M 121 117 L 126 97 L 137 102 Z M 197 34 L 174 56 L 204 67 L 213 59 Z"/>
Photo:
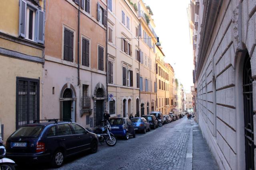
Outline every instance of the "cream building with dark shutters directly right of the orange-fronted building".
<path id="1" fill-rule="evenodd" d="M 128 0 L 108 0 L 108 101 L 111 117 L 140 112 L 137 18 Z"/>

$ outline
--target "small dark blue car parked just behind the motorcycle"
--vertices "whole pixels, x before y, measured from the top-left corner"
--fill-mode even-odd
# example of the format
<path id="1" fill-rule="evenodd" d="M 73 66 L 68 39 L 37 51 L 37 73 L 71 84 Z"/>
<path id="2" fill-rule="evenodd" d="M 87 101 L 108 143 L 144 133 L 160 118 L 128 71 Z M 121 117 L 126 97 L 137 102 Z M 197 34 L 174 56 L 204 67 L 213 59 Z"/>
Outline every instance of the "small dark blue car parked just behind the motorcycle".
<path id="1" fill-rule="evenodd" d="M 124 137 L 128 140 L 129 136 L 135 137 L 135 130 L 132 121 L 126 117 L 109 119 L 111 125 L 111 133 L 116 137 Z"/>

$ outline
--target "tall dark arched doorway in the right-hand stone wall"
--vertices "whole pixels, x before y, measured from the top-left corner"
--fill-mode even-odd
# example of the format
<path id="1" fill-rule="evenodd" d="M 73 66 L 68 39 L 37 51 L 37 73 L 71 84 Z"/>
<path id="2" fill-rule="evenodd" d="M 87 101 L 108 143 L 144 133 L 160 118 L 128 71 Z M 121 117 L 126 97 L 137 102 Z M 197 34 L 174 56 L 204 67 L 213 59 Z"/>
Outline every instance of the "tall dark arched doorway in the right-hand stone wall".
<path id="1" fill-rule="evenodd" d="M 244 135 L 246 170 L 254 170 L 254 129 L 253 129 L 253 98 L 252 70 L 249 54 L 246 54 L 243 67 L 243 96 L 244 96 Z"/>

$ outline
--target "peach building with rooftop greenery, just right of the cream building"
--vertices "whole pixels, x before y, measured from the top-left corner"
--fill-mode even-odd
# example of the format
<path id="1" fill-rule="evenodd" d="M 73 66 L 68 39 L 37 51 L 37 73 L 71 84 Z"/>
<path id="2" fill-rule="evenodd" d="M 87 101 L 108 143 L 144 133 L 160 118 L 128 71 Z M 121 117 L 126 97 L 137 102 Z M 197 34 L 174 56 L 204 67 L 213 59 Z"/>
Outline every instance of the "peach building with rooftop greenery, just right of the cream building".
<path id="1" fill-rule="evenodd" d="M 152 11 L 142 0 L 138 4 L 140 47 L 140 115 L 156 110 L 156 33 Z"/>

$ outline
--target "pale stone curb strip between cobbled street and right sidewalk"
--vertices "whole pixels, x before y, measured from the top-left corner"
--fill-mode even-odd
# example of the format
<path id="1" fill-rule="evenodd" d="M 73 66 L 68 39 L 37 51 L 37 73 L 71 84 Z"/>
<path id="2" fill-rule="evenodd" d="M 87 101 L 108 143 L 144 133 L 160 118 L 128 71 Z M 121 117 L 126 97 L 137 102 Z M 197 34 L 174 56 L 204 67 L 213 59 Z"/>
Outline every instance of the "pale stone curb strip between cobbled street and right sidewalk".
<path id="1" fill-rule="evenodd" d="M 193 127 L 190 127 L 190 133 L 188 138 L 188 148 L 186 154 L 186 160 L 183 170 L 192 170 L 192 158 L 193 158 Z"/>

